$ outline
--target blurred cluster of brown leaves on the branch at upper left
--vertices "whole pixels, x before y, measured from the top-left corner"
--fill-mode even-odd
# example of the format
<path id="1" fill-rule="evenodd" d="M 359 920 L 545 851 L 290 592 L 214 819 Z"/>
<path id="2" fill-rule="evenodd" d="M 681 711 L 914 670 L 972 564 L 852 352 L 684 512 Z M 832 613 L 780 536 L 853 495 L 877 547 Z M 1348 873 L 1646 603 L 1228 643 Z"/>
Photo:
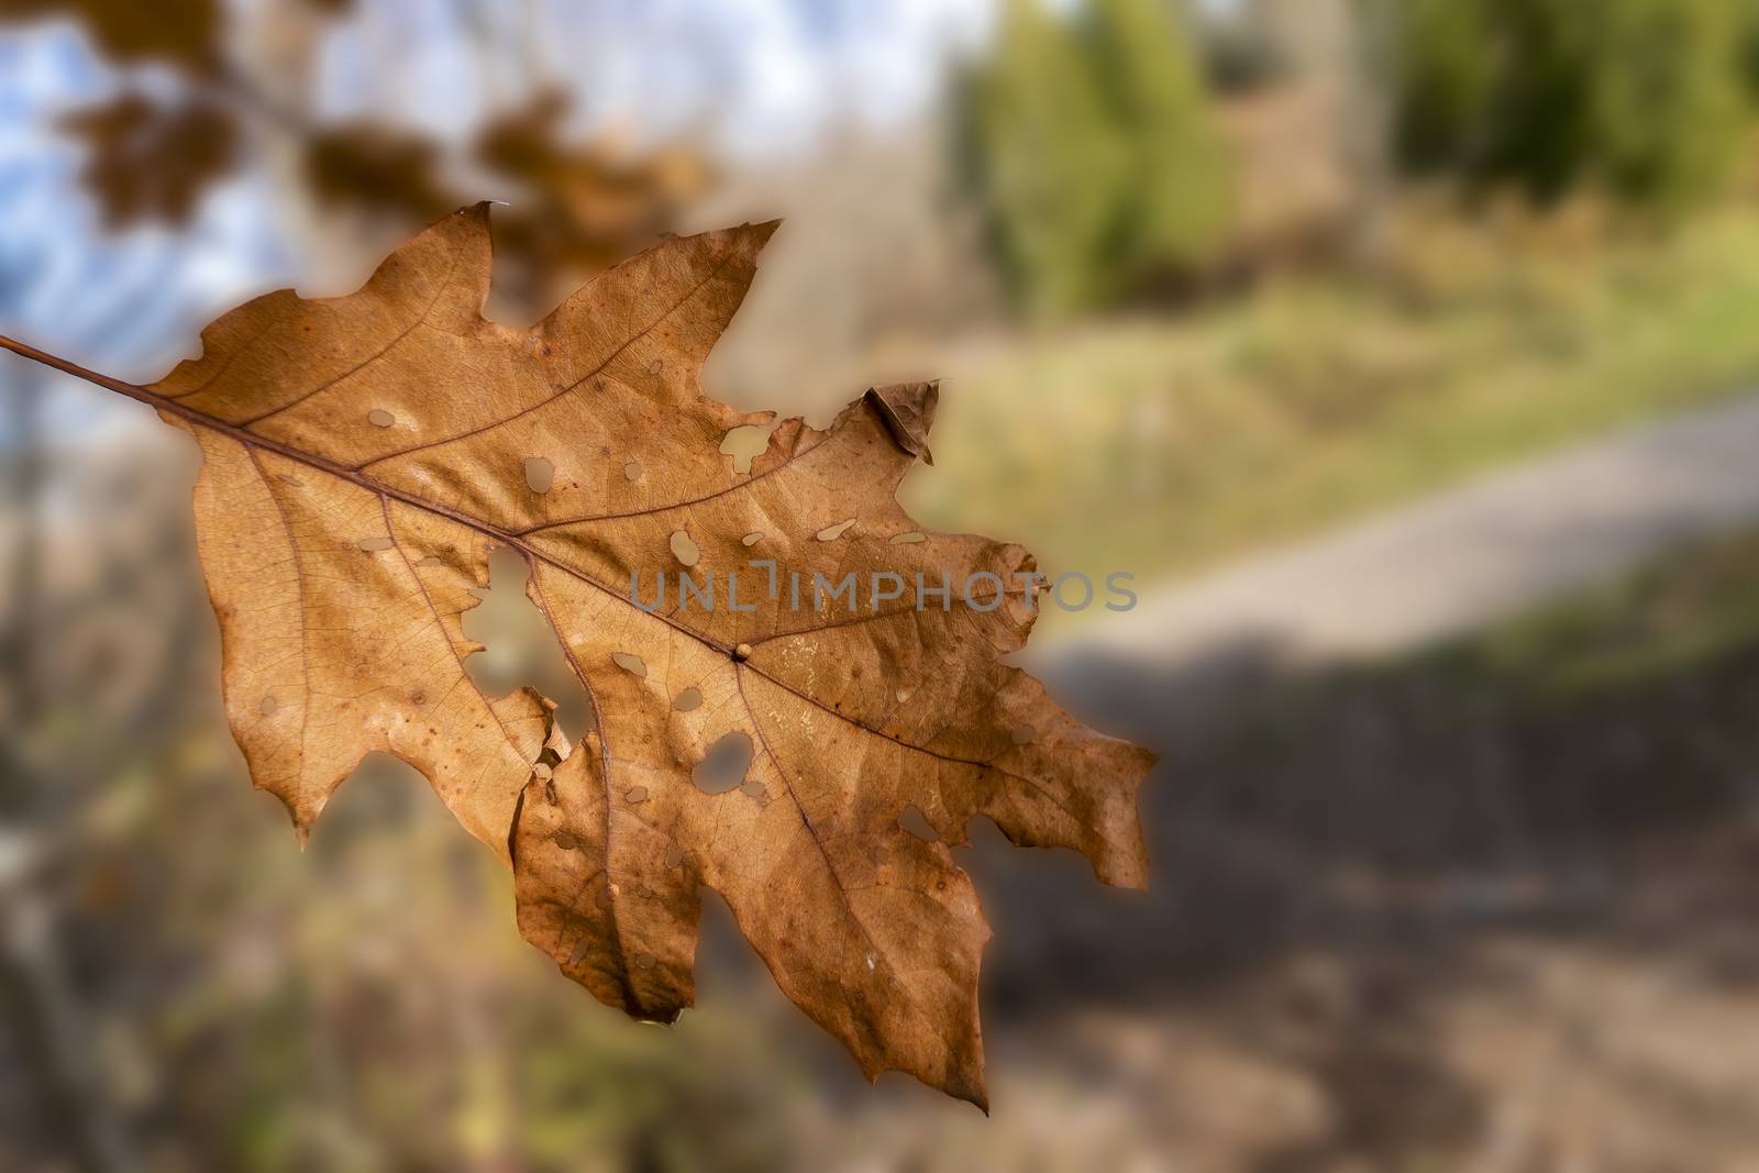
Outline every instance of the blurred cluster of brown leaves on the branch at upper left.
<path id="1" fill-rule="evenodd" d="M 350 7 L 304 4 L 324 16 Z M 487 121 L 454 157 L 429 134 L 375 118 L 327 123 L 290 104 L 285 95 L 303 86 L 264 84 L 253 63 L 232 60 L 215 0 L 0 0 L 0 23 L 55 16 L 81 21 L 111 62 L 172 65 L 185 83 L 176 106 L 125 95 L 63 120 L 88 148 L 83 183 L 111 229 L 188 220 L 208 185 L 232 171 L 245 135 L 288 135 L 304 183 L 331 208 L 405 227 L 480 197 L 484 183 L 517 200 L 500 223 L 510 262 L 501 294 L 535 306 L 670 229 L 707 186 L 702 158 L 684 148 L 626 155 L 610 141 L 572 142 L 561 90 Z"/>

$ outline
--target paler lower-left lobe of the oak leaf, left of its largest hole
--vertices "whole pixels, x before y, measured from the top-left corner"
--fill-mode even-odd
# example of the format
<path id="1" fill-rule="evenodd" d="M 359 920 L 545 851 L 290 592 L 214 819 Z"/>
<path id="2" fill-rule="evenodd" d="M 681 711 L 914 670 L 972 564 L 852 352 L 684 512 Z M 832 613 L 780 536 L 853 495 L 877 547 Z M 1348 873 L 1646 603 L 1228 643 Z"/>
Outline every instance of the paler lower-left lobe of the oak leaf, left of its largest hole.
<path id="1" fill-rule="evenodd" d="M 464 672 L 477 645 L 461 616 L 477 605 L 485 559 L 461 561 L 457 550 L 480 542 L 361 485 L 281 475 L 299 468 L 283 455 L 215 431 L 195 436 L 206 457 L 199 550 L 220 619 L 227 718 L 252 779 L 287 804 L 304 837 L 368 753 L 390 753 L 505 856 L 551 721 L 536 693 L 496 698 Z"/>

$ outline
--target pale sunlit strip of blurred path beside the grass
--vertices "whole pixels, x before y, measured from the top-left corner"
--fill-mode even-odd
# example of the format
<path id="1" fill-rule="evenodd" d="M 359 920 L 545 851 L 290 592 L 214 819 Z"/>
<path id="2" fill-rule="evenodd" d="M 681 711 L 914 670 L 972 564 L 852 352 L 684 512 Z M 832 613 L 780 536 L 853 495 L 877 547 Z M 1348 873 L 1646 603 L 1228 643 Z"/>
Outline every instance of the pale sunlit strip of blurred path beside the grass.
<path id="1" fill-rule="evenodd" d="M 1159 591 L 1034 647 L 1157 665 L 1405 651 L 1759 522 L 1759 396 L 1613 434 Z"/>

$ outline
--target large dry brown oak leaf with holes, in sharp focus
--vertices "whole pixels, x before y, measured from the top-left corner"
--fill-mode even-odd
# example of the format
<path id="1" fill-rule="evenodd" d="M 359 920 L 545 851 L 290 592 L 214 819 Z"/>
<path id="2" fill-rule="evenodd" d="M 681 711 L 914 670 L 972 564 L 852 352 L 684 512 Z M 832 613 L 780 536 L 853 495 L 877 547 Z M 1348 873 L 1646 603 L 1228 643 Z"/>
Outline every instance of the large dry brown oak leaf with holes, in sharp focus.
<path id="1" fill-rule="evenodd" d="M 362 754 L 394 753 L 514 865 L 521 932 L 603 1002 L 653 1020 L 691 1004 L 707 885 L 869 1076 L 982 1106 L 989 927 L 948 844 L 985 814 L 1142 886 L 1152 754 L 1001 663 L 1034 619 L 1024 549 L 922 535 L 897 505 L 934 385 L 869 390 L 828 431 L 700 392 L 774 227 L 668 239 L 515 331 L 482 317 L 477 206 L 357 294 L 267 294 L 164 382 L 106 385 L 201 441 L 227 716 L 301 834 Z M 735 427 L 770 427 L 762 454 L 725 443 Z M 552 464 L 547 491 L 528 457 Z M 496 698 L 464 672 L 477 645 L 459 617 L 494 545 L 524 556 L 591 698 L 572 751 L 536 693 Z M 876 610 L 865 587 L 858 608 L 795 608 L 755 557 L 783 579 L 885 570 L 955 589 L 945 608 L 906 591 Z M 631 572 L 651 591 L 686 561 L 723 591 L 742 573 L 755 608 L 631 600 Z M 967 603 L 957 584 L 978 572 L 1004 587 Z M 749 739 L 744 784 L 705 793 L 693 769 L 728 735 Z M 901 827 L 909 807 L 938 841 Z"/>

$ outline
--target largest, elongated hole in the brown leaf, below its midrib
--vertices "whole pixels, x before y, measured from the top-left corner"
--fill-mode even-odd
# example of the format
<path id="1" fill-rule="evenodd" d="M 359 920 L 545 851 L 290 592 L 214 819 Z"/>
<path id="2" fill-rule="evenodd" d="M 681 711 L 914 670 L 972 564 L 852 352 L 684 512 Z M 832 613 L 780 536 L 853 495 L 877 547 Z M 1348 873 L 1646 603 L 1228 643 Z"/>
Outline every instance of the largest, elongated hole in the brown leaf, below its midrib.
<path id="1" fill-rule="evenodd" d="M 505 696 L 521 684 L 533 686 L 556 702 L 561 732 L 579 742 L 591 728 L 593 707 L 568 667 L 556 631 L 526 596 L 529 575 L 517 550 L 503 547 L 489 554 L 489 586 L 475 591 L 482 603 L 463 614 L 464 635 L 482 644 L 484 651 L 464 659 L 464 672 L 491 696 Z"/>

